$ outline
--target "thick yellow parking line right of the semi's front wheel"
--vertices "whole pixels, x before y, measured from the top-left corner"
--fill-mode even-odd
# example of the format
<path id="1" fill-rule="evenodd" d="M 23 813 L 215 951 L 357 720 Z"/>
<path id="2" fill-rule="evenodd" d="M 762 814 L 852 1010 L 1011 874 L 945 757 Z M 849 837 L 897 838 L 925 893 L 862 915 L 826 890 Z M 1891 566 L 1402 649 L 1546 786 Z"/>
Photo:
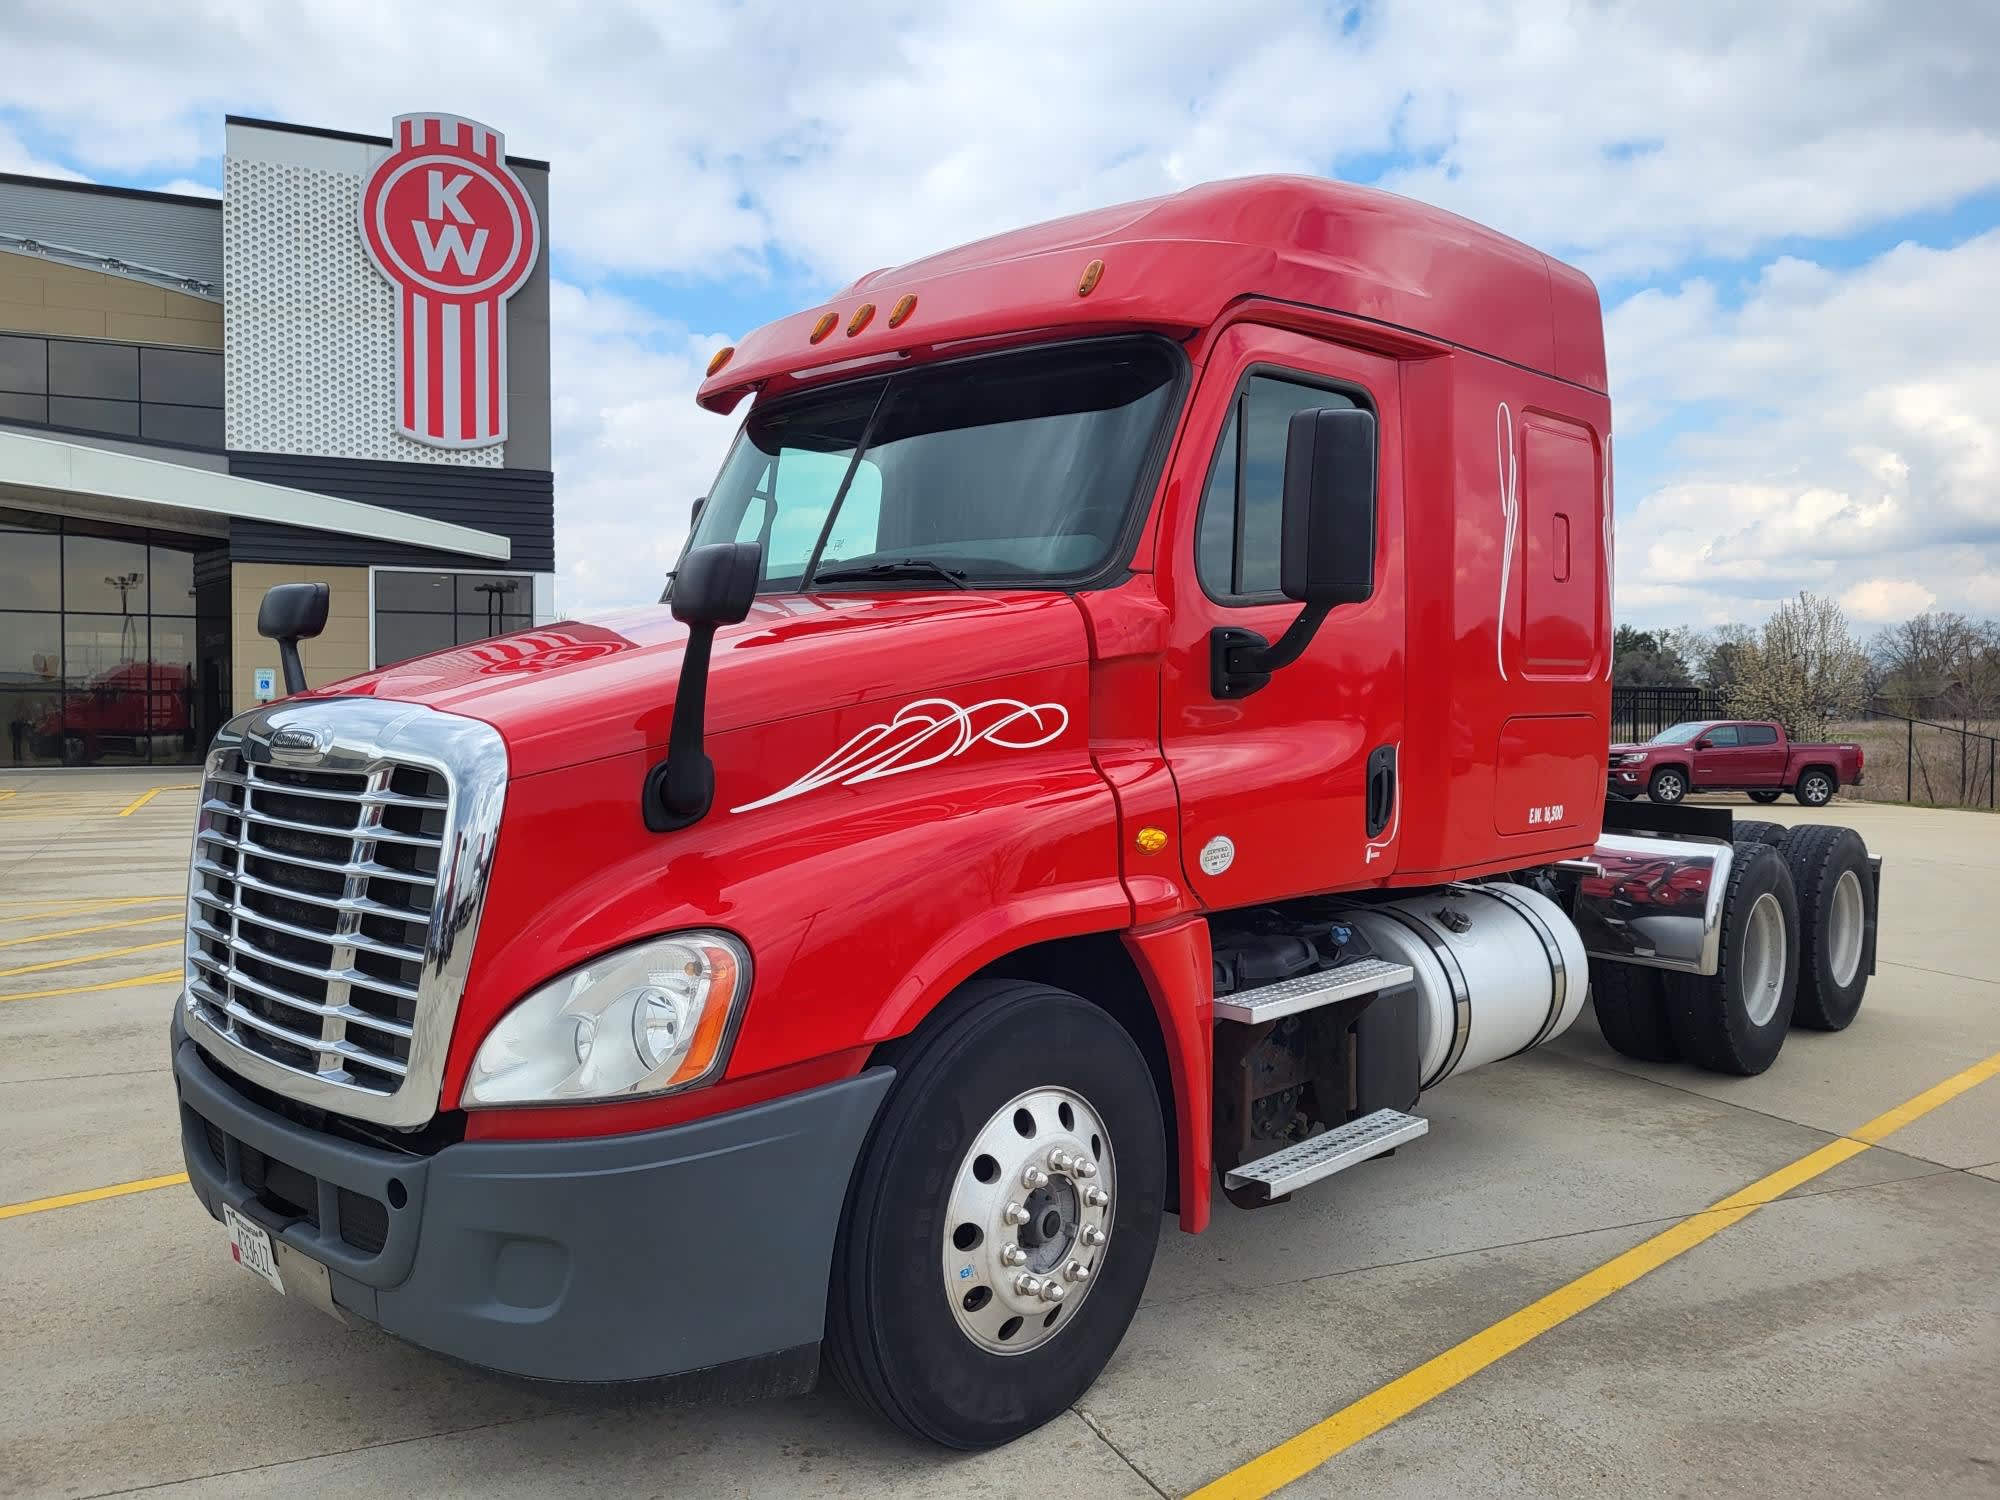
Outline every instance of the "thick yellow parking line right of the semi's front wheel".
<path id="1" fill-rule="evenodd" d="M 1782 1198 L 1802 1182 L 1812 1182 L 1812 1178 L 1822 1172 L 1830 1172 L 1840 1162 L 1860 1156 L 1864 1150 L 1882 1142 L 1896 1130 L 1902 1130 L 1912 1120 L 1930 1114 L 1946 1100 L 1958 1098 L 1968 1088 L 1974 1088 L 1996 1074 L 2000 1074 L 2000 1052 L 1984 1062 L 1972 1064 L 1964 1072 L 1952 1074 L 1936 1088 L 1926 1088 L 1922 1094 L 1898 1104 L 1894 1110 L 1878 1114 L 1860 1130 L 1828 1142 L 1788 1166 L 1780 1166 L 1770 1176 L 1758 1178 L 1748 1188 L 1732 1192 L 1722 1202 L 1712 1204 L 1698 1214 L 1690 1214 L 1672 1228 L 1632 1246 L 1622 1256 L 1614 1256 L 1596 1270 L 1584 1272 L 1568 1286 L 1558 1286 L 1548 1296 L 1538 1302 L 1530 1302 L 1526 1308 L 1502 1318 L 1492 1328 L 1472 1334 L 1472 1338 L 1462 1344 L 1454 1344 L 1434 1360 L 1426 1360 L 1406 1376 L 1390 1380 L 1386 1386 L 1368 1392 L 1358 1402 L 1340 1408 L 1324 1422 L 1300 1432 L 1296 1438 L 1280 1442 L 1270 1452 L 1230 1470 L 1220 1480 L 1204 1484 L 1194 1492 L 1194 1496 L 1190 1496 L 1190 1500 L 1250 1500 L 1252 1496 L 1268 1496 L 1286 1484 L 1304 1478 L 1320 1464 L 1352 1448 L 1362 1438 L 1380 1432 L 1390 1422 L 1408 1416 L 1418 1406 L 1424 1406 L 1454 1386 L 1464 1384 L 1488 1364 L 1506 1358 L 1514 1350 L 1546 1334 L 1550 1328 L 1568 1322 L 1584 1308 L 1592 1308 L 1612 1292 L 1630 1286 L 1646 1272 L 1658 1270 L 1676 1256 L 1682 1256 L 1704 1240 L 1714 1238 L 1730 1224 L 1748 1218 L 1758 1208 Z"/>

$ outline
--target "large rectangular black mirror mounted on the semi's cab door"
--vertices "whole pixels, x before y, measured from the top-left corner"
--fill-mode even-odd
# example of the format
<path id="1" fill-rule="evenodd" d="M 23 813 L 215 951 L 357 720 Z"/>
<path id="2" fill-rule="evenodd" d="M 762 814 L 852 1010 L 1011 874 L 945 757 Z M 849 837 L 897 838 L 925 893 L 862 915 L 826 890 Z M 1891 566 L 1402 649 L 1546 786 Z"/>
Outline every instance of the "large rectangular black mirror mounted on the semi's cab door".
<path id="1" fill-rule="evenodd" d="M 1208 686 L 1248 698 L 1300 658 L 1336 604 L 1374 594 L 1376 420 L 1354 406 L 1294 412 L 1284 434 L 1278 588 L 1302 608 L 1276 642 L 1226 626 L 1208 636 Z"/>

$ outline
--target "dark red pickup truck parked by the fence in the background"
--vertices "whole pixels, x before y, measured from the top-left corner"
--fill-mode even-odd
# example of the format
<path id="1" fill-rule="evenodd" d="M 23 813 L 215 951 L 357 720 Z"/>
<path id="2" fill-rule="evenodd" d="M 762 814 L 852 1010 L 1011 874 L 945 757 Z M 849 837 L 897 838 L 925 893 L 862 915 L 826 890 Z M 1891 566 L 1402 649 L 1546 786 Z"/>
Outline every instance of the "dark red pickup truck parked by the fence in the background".
<path id="1" fill-rule="evenodd" d="M 1784 726 L 1772 722 L 1704 718 L 1660 730 L 1646 744 L 1614 744 L 1606 776 L 1612 796 L 1622 798 L 1748 792 L 1752 802 L 1776 802 L 1790 792 L 1824 808 L 1836 790 L 1860 784 L 1862 748 L 1786 740 Z"/>

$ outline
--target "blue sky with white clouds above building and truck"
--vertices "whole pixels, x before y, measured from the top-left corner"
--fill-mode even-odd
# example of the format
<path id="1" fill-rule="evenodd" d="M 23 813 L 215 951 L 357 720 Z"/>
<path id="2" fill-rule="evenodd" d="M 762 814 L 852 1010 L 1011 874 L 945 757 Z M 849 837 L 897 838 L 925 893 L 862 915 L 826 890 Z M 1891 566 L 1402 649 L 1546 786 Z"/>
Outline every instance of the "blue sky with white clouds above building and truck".
<path id="1" fill-rule="evenodd" d="M 0 4 L 0 170 L 216 190 L 226 112 L 554 166 L 560 602 L 656 598 L 706 354 L 854 274 L 1320 172 L 1588 270 L 1620 616 L 2000 616 L 2000 6 Z"/>

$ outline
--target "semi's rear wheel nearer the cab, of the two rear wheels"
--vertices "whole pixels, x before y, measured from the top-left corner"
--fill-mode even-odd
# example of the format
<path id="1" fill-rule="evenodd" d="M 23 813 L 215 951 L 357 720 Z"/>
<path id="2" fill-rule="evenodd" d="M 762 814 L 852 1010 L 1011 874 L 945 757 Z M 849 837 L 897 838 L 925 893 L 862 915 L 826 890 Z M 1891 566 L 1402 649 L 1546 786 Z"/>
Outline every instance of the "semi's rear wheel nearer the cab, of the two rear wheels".
<path id="1" fill-rule="evenodd" d="M 1798 998 L 1798 898 L 1784 854 L 1736 840 L 1714 974 L 1668 974 L 1682 1056 L 1710 1072 L 1760 1074 L 1778 1058 Z"/>

